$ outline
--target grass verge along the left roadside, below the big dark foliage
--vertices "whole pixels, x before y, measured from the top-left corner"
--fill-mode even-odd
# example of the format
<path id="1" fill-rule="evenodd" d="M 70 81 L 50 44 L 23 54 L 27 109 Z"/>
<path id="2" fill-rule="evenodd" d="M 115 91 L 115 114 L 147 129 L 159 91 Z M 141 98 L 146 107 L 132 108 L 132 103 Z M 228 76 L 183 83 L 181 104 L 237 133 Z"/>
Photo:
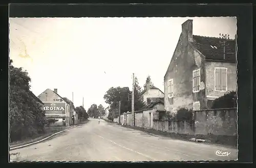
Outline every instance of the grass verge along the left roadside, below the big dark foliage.
<path id="1" fill-rule="evenodd" d="M 32 137 L 27 138 L 27 139 L 11 142 L 10 143 L 10 148 L 23 146 L 23 145 L 26 145 L 26 144 L 29 144 L 29 143 L 36 142 L 38 140 L 44 139 L 44 138 L 54 134 L 54 133 L 66 130 L 66 129 L 71 128 L 71 127 L 73 127 L 73 126 L 51 126 L 51 127 L 46 127 L 44 134 L 39 134 L 39 135 L 32 136 Z"/>

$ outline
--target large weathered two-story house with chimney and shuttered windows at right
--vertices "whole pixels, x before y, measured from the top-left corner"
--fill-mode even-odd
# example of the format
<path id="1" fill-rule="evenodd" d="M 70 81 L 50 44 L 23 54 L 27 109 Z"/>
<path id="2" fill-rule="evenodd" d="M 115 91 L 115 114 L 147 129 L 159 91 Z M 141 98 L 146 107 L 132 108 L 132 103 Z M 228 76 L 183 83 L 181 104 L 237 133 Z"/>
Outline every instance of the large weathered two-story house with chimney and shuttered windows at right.
<path id="1" fill-rule="evenodd" d="M 185 21 L 164 76 L 165 110 L 210 109 L 212 101 L 236 91 L 236 55 L 236 40 L 193 35 L 193 20 Z"/>

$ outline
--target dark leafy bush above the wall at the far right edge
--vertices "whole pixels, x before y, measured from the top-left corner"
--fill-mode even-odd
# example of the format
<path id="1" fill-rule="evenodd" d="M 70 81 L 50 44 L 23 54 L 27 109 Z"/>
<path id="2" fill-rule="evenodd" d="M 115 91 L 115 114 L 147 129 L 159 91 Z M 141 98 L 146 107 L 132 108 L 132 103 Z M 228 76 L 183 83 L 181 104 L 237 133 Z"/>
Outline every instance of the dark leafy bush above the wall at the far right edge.
<path id="1" fill-rule="evenodd" d="M 231 91 L 224 94 L 222 97 L 215 99 L 212 103 L 212 109 L 219 108 L 234 108 L 237 107 L 237 93 L 236 91 Z"/>

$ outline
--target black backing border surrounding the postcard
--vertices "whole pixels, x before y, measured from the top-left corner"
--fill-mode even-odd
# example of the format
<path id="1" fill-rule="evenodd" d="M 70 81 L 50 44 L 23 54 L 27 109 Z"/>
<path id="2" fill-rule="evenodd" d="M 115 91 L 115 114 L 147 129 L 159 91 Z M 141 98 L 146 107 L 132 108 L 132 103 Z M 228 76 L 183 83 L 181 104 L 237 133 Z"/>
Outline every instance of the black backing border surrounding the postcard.
<path id="1" fill-rule="evenodd" d="M 2 38 L 6 46 L 1 56 L 1 111 L 8 111 L 8 7 L 1 6 Z M 219 4 L 45 4 L 45 5 L 11 5 L 10 17 L 161 17 L 161 16 L 237 16 L 238 18 L 238 113 L 239 113 L 239 160 L 252 162 L 252 5 Z M 5 26 L 4 26 L 5 25 Z M 5 37 L 5 38 L 3 38 Z M 5 110 L 3 110 L 5 109 Z M 6 123 L 8 113 L 2 112 L 3 123 Z M 2 158 L 8 159 L 8 125 L 2 126 L 2 138 L 7 145 L 1 150 Z M 2 140 L 2 142 L 3 142 Z M 5 156 L 5 157 L 4 157 Z M 181 162 L 178 162 L 181 163 Z M 223 162 L 220 162 L 223 163 Z M 12 166 L 15 163 L 9 163 Z M 78 163 L 81 164 L 81 163 Z M 87 163 L 86 166 L 91 165 Z M 118 164 L 118 163 L 115 163 Z M 134 163 L 137 165 L 139 163 Z M 145 164 L 145 163 L 144 163 Z M 151 164 L 157 163 L 151 162 Z M 165 163 L 161 163 L 164 165 Z M 19 164 L 20 165 L 20 164 Z M 34 163 L 23 163 L 29 166 Z M 94 166 L 96 164 L 93 164 Z M 183 165 L 183 164 L 178 164 Z M 194 164 L 197 165 L 198 164 Z M 248 164 L 247 164 L 248 165 Z M 103 165 L 105 166 L 105 165 Z M 121 165 L 119 165 L 121 166 Z M 140 164 L 141 166 L 141 164 Z M 245 165 L 243 165 L 245 166 Z"/>

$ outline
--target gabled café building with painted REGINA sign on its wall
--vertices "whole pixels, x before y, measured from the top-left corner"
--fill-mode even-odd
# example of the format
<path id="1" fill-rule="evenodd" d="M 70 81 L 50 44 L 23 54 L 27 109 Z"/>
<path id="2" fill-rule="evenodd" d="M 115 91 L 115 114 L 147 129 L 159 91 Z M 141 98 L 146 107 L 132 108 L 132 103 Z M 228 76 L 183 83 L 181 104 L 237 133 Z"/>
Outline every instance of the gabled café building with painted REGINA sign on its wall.
<path id="1" fill-rule="evenodd" d="M 44 92 L 38 95 L 38 99 L 44 103 L 44 110 L 46 118 L 54 118 L 58 120 L 58 124 L 61 125 L 64 122 L 66 126 L 73 125 L 72 116 L 74 115 L 75 124 L 78 123 L 77 113 L 74 111 L 74 107 L 67 99 L 63 99 L 57 92 L 57 89 L 46 89 Z"/>

